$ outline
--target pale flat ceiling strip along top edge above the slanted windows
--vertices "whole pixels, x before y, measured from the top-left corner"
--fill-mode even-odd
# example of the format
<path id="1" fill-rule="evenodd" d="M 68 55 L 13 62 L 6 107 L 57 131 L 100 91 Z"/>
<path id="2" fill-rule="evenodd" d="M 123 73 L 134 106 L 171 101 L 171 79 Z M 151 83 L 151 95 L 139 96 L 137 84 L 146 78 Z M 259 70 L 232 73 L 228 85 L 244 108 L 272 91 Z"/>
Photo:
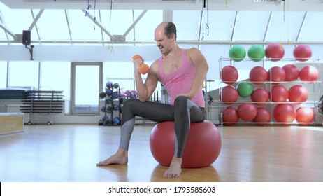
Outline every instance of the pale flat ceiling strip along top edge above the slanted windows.
<path id="1" fill-rule="evenodd" d="M 84 9 L 87 1 L 95 0 L 1 0 L 12 9 Z M 204 4 L 208 10 L 323 10 L 323 0 L 96 0 L 101 10 L 201 10 Z"/>

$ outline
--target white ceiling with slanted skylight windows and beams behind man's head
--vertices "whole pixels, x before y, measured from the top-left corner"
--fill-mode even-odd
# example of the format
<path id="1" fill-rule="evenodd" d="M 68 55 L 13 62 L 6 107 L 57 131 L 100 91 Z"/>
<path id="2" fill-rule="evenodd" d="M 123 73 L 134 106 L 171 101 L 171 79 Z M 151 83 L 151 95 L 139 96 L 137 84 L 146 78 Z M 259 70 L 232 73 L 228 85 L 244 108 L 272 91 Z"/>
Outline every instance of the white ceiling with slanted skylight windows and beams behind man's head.
<path id="1" fill-rule="evenodd" d="M 27 29 L 39 44 L 154 44 L 161 21 L 175 22 L 186 44 L 323 43 L 323 0 L 206 0 L 205 8 L 203 0 L 0 2 L 3 44 L 21 44 Z"/>

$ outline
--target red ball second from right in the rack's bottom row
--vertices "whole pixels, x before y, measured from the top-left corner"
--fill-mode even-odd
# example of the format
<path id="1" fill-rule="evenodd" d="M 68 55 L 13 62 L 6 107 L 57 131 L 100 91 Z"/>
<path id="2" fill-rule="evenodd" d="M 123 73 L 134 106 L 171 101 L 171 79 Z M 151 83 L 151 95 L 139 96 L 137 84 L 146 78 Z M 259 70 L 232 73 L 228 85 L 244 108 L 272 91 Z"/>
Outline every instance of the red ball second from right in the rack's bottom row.
<path id="1" fill-rule="evenodd" d="M 292 104 L 278 104 L 273 109 L 273 117 L 280 123 L 292 123 L 296 118 L 296 111 Z"/>

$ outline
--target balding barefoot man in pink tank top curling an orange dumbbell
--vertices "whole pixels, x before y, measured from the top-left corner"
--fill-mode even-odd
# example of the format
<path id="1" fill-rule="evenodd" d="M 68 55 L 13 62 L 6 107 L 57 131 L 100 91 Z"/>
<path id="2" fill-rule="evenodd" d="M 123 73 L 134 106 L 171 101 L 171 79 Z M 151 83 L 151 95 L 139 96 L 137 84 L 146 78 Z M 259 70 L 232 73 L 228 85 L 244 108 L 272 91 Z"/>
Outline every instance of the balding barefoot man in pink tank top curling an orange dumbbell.
<path id="1" fill-rule="evenodd" d="M 145 83 L 139 72 L 142 59 L 135 59 L 136 90 L 139 99 L 129 99 L 122 109 L 120 146 L 117 152 L 97 165 L 127 165 L 131 134 L 135 116 L 159 122 L 175 122 L 175 153 L 170 167 L 164 172 L 166 178 L 177 178 L 182 173 L 182 153 L 191 123 L 205 120 L 205 101 L 202 85 L 208 73 L 208 63 L 197 48 L 182 49 L 176 42 L 173 22 L 161 22 L 155 29 L 156 45 L 161 57 L 150 66 Z M 168 92 L 168 104 L 148 101 L 157 83 Z"/>

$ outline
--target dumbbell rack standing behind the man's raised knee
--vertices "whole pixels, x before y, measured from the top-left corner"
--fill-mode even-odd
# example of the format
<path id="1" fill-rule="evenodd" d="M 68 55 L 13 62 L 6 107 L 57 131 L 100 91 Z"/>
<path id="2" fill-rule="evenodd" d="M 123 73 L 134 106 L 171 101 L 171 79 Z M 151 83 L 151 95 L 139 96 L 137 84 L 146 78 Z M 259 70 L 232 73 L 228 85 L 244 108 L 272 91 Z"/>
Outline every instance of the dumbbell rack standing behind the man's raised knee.
<path id="1" fill-rule="evenodd" d="M 103 117 L 99 120 L 99 125 L 112 126 L 121 124 L 121 103 L 120 103 L 120 86 L 106 85 L 106 94 L 103 97 L 104 106 L 101 111 L 104 111 Z M 118 116 L 114 116 L 113 111 L 118 111 Z M 110 118 L 108 117 L 110 114 Z M 117 120 L 115 118 L 117 117 Z"/>

